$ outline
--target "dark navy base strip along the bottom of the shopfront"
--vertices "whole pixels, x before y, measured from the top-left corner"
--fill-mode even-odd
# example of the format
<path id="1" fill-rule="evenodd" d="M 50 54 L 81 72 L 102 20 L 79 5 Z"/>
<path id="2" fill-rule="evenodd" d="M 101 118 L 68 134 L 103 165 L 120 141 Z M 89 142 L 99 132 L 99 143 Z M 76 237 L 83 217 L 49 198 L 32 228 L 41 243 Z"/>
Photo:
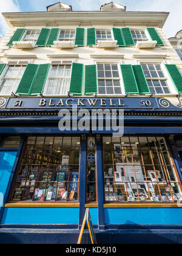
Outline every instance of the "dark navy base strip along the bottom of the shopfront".
<path id="1" fill-rule="evenodd" d="M 95 230 L 98 244 L 182 244 L 182 226 L 138 226 L 123 229 Z M 39 229 L 0 226 L 0 244 L 76 244 L 78 229 Z M 83 244 L 90 244 L 88 230 L 84 231 Z"/>

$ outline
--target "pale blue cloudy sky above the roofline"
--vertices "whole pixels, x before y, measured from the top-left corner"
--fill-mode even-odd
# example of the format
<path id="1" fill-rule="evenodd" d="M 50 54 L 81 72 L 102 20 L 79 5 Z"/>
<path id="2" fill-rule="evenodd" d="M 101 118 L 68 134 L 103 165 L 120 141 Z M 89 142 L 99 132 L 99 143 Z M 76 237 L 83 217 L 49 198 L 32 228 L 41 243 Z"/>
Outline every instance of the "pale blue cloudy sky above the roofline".
<path id="1" fill-rule="evenodd" d="M 112 0 L 65 0 L 72 5 L 73 11 L 99 10 L 100 6 Z M 0 37 L 4 37 L 8 26 L 2 17 L 2 12 L 46 12 L 46 6 L 55 4 L 58 0 L 0 0 Z M 174 37 L 182 29 L 181 0 L 116 0 L 126 6 L 126 11 L 140 12 L 170 12 L 164 25 L 167 37 Z"/>

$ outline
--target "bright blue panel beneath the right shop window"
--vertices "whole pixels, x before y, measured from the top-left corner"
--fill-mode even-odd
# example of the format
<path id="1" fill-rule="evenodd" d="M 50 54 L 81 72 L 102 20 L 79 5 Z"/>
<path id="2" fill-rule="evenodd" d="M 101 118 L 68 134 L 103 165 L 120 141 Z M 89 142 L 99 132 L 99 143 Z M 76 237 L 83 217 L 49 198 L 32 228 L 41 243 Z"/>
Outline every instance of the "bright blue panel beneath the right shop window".
<path id="1" fill-rule="evenodd" d="M 182 225 L 182 208 L 105 208 L 105 224 Z"/>

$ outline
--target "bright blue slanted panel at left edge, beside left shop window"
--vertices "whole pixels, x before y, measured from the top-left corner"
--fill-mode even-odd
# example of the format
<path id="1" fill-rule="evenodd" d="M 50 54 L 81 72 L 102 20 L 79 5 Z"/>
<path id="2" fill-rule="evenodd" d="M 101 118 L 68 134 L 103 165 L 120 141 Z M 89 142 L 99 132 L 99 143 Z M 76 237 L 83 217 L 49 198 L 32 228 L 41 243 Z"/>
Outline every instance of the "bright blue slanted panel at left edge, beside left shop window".
<path id="1" fill-rule="evenodd" d="M 13 165 L 15 163 L 17 151 L 1 151 L 0 152 L 0 213 L 1 207 L 4 205 L 4 196 L 7 191 L 8 182 L 12 174 Z M 1 214 L 0 214 L 1 216 Z"/>

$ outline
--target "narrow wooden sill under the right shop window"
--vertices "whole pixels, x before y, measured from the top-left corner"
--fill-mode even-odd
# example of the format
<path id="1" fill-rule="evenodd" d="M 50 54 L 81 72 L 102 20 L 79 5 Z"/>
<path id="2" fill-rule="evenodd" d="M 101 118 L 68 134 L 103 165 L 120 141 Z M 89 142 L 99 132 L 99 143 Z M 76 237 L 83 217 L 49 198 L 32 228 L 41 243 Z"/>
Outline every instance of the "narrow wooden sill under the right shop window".
<path id="1" fill-rule="evenodd" d="M 104 204 L 104 208 L 179 208 L 176 203 L 111 203 Z"/>

